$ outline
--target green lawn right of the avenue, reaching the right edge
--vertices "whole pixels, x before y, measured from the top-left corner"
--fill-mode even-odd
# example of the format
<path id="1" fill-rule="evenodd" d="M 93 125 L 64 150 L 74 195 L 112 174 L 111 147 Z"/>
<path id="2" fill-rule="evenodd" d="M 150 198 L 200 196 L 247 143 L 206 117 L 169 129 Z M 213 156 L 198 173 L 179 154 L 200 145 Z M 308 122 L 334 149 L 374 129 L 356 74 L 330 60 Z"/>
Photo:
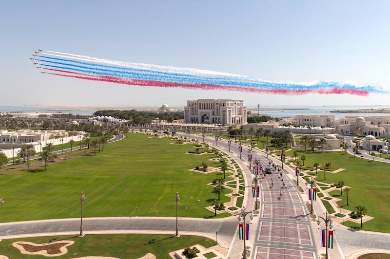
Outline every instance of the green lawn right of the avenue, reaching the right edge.
<path id="1" fill-rule="evenodd" d="M 390 221 L 390 206 L 388 205 L 388 197 L 390 195 L 390 164 L 381 163 L 372 160 L 362 159 L 358 156 L 345 154 L 340 151 L 314 151 L 304 149 L 293 149 L 288 151 L 286 156 L 293 156 L 293 151 L 298 151 L 298 157 L 305 154 L 305 165 L 312 166 L 318 162 L 321 166 L 331 162 L 331 166 L 345 168 L 346 170 L 338 173 L 326 173 L 324 180 L 324 172 L 318 171 L 315 181 L 325 182 L 328 184 L 337 184 L 339 181 L 344 181 L 344 184 L 351 187 L 349 192 L 349 203 L 347 206 L 347 195 L 343 191 L 343 195 L 337 198 L 343 199 L 340 203 L 343 208 L 353 210 L 355 206 L 362 205 L 367 209 L 367 215 L 375 219 L 363 223 L 363 230 L 390 232 L 390 224 L 385 222 Z M 323 188 L 324 189 L 324 188 Z M 338 189 L 339 190 L 339 189 Z"/>

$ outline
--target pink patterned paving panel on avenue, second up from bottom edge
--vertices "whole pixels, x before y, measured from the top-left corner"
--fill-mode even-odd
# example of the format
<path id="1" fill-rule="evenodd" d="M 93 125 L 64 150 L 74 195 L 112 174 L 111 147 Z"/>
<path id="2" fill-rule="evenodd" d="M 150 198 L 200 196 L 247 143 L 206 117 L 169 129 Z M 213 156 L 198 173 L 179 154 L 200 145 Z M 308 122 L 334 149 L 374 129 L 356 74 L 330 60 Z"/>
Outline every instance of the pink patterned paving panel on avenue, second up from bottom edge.
<path id="1" fill-rule="evenodd" d="M 257 240 L 313 245 L 309 226 L 296 223 L 260 222 Z"/>

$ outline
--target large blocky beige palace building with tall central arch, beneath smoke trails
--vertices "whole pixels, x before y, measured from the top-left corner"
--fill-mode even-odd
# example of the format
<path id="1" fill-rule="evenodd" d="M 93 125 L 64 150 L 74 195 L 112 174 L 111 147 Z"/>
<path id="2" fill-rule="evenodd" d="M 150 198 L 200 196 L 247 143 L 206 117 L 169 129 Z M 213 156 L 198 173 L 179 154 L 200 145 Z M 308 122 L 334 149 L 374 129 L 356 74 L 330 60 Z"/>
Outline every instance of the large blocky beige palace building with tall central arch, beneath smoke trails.
<path id="1" fill-rule="evenodd" d="M 247 124 L 247 108 L 242 100 L 198 99 L 187 100 L 184 123 Z"/>

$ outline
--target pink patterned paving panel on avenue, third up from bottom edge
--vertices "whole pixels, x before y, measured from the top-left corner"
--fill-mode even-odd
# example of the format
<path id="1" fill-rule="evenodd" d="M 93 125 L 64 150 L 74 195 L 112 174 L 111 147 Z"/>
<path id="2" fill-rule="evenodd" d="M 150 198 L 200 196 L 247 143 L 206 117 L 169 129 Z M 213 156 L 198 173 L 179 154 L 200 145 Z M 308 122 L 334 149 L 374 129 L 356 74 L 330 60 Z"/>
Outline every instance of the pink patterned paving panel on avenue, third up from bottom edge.
<path id="1" fill-rule="evenodd" d="M 290 219 L 307 221 L 305 209 L 300 205 L 263 204 L 263 219 Z"/>

